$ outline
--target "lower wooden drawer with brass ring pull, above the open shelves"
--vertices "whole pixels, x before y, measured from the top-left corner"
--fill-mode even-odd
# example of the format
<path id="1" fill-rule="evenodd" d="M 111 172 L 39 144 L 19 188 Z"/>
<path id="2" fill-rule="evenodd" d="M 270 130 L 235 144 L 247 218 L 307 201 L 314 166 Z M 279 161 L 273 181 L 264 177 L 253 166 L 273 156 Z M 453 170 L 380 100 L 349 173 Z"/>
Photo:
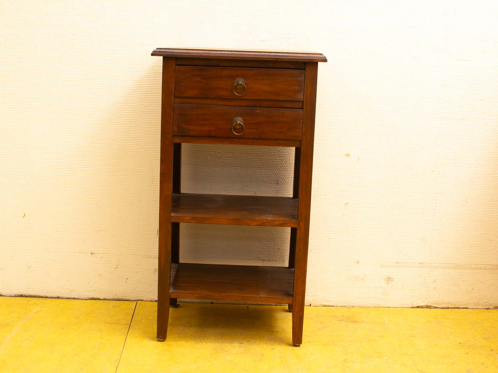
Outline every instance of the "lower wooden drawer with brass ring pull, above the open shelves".
<path id="1" fill-rule="evenodd" d="M 276 107 L 175 104 L 173 116 L 177 136 L 300 140 L 303 125 L 302 109 Z"/>

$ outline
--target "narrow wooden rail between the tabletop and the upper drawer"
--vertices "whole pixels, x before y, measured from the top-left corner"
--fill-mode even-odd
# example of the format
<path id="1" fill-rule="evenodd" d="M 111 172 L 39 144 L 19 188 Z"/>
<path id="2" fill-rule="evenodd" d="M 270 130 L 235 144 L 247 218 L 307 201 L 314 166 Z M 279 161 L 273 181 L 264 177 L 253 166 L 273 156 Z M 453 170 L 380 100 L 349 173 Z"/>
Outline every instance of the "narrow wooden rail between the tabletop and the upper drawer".
<path id="1" fill-rule="evenodd" d="M 269 69 L 301 69 L 304 62 L 291 61 L 251 61 L 251 60 L 220 60 L 212 58 L 177 58 L 176 65 L 186 66 L 226 66 L 226 67 L 262 67 Z"/>

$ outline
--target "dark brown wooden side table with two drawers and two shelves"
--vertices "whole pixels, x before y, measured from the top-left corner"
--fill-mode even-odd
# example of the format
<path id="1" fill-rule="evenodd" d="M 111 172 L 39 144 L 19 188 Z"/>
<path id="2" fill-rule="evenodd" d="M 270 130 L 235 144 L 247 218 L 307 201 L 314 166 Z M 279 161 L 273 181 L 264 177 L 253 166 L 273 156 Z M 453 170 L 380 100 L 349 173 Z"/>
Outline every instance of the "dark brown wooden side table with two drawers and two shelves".
<path id="1" fill-rule="evenodd" d="M 161 156 L 157 339 L 177 298 L 287 304 L 302 342 L 319 53 L 158 48 Z M 292 197 L 181 193 L 181 144 L 295 148 Z M 182 263 L 180 223 L 290 227 L 289 265 Z"/>

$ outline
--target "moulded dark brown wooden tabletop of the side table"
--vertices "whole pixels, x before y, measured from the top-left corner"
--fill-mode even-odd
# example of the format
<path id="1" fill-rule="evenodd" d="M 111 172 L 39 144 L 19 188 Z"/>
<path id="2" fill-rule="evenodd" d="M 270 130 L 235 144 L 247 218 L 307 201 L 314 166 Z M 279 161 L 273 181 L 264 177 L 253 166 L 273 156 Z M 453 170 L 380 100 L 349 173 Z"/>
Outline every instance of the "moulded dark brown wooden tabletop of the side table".
<path id="1" fill-rule="evenodd" d="M 182 58 L 218 58 L 228 60 L 327 62 L 327 58 L 323 54 L 316 52 L 157 48 L 152 51 L 151 55 Z"/>

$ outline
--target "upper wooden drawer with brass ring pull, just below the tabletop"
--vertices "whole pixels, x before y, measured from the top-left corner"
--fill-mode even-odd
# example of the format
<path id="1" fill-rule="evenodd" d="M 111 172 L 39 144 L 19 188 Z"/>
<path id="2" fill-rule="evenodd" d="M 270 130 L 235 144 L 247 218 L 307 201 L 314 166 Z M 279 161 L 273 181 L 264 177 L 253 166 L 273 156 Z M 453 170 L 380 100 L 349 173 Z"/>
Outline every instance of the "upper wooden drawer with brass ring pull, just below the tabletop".
<path id="1" fill-rule="evenodd" d="M 304 70 L 176 66 L 175 96 L 302 101 Z"/>

